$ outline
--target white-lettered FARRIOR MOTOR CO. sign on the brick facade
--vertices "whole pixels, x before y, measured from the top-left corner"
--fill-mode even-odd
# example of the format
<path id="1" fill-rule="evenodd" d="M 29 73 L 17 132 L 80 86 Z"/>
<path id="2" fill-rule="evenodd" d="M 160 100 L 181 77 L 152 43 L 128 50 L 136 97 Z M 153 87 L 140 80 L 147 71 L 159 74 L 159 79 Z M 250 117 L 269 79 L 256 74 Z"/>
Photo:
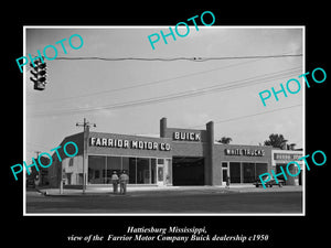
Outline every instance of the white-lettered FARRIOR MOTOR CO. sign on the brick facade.
<path id="1" fill-rule="evenodd" d="M 106 139 L 95 138 L 89 139 L 89 145 L 92 147 L 107 147 L 107 148 L 125 148 L 125 149 L 140 149 L 140 150 L 160 150 L 170 151 L 170 143 L 159 143 L 154 141 L 142 140 L 122 140 L 122 139 Z"/>

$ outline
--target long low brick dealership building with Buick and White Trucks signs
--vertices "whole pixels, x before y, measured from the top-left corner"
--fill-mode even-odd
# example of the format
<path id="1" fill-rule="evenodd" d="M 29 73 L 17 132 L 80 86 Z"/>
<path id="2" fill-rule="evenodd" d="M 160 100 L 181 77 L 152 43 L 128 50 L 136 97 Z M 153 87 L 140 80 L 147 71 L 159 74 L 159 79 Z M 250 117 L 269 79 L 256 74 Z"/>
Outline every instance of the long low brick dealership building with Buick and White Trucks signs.
<path id="1" fill-rule="evenodd" d="M 128 136 L 84 132 L 66 137 L 60 145 L 73 141 L 78 147 L 77 155 L 70 158 L 63 152 L 52 155 L 49 182 L 58 187 L 109 186 L 114 171 L 127 171 L 129 185 L 225 185 L 252 184 L 265 172 L 280 172 L 280 166 L 302 157 L 302 151 L 273 149 L 269 145 L 223 144 L 215 142 L 214 123 L 205 129 L 169 128 L 167 118 L 160 120 L 160 137 Z M 68 152 L 70 153 L 70 152 Z M 299 161 L 300 162 L 300 161 Z M 302 166 L 302 164 L 300 164 Z M 289 171 L 299 169 L 291 164 Z M 301 183 L 298 176 L 288 176 L 287 184 Z"/>

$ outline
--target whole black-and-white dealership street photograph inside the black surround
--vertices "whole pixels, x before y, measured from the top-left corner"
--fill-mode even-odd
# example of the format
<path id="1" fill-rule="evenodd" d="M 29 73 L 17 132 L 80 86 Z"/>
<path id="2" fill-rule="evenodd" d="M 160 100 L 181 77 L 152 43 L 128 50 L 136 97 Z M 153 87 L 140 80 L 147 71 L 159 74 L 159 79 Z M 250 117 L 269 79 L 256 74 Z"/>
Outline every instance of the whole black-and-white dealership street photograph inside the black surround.
<path id="1" fill-rule="evenodd" d="M 305 214 L 303 26 L 24 29 L 26 215 Z"/>

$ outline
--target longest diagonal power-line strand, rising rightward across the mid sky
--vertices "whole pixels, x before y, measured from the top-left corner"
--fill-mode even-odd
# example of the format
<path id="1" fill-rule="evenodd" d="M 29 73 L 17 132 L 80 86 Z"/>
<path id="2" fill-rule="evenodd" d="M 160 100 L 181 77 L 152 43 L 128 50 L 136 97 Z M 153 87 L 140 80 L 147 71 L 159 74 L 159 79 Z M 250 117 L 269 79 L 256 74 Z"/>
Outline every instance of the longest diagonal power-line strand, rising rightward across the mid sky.
<path id="1" fill-rule="evenodd" d="M 215 91 L 225 91 L 234 88 L 242 88 L 242 87 L 248 87 L 255 84 L 261 84 L 266 83 L 267 80 L 270 79 L 280 79 L 285 77 L 289 77 L 289 74 L 293 74 L 296 71 L 301 69 L 301 67 L 295 67 L 286 71 L 280 71 L 276 73 L 268 73 L 259 76 L 254 76 L 250 78 L 246 79 L 239 79 L 239 80 L 233 80 L 228 82 L 226 84 L 216 84 L 213 86 L 209 86 L 205 88 L 200 88 L 196 90 L 185 90 L 177 94 L 171 94 L 171 95 L 166 95 L 162 97 L 154 97 L 154 98 L 147 98 L 147 99 L 140 99 L 140 100 L 134 100 L 134 101 L 127 101 L 127 103 L 121 103 L 121 104 L 116 104 L 116 105 L 110 105 L 110 106 L 100 106 L 100 107 L 87 107 L 87 108 L 75 108 L 75 109 L 66 109 L 66 110 L 60 110 L 55 112 L 39 112 L 39 114 L 32 114 L 32 117 L 38 117 L 38 116 L 49 116 L 49 115 L 66 115 L 66 114 L 75 114 L 75 112 L 85 112 L 85 111 L 94 111 L 94 110 L 103 110 L 103 109 L 118 109 L 118 108 L 124 108 L 124 107 L 136 107 L 136 106 L 141 106 L 141 105 L 149 105 L 149 104 L 157 104 L 157 103 L 163 103 L 163 101 L 169 101 L 169 100 L 175 100 L 175 99 L 183 99 L 188 97 L 195 97 L 195 96 L 201 96 L 201 95 L 206 95 Z M 247 85 L 247 82 L 252 82 L 250 84 Z M 261 82 L 261 83 L 260 83 Z"/>

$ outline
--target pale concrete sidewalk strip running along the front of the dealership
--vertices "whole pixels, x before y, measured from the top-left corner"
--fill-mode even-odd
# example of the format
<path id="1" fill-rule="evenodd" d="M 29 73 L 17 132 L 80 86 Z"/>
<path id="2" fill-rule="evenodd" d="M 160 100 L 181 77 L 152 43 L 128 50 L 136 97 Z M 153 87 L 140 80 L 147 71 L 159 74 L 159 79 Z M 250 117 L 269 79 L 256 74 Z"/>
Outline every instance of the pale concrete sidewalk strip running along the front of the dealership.
<path id="1" fill-rule="evenodd" d="M 64 188 L 63 194 L 60 188 L 38 188 L 38 192 L 45 196 L 82 196 L 83 190 Z M 266 192 L 302 192 L 302 186 L 274 186 L 274 187 L 255 187 L 254 185 L 246 184 L 232 184 L 229 188 L 225 186 L 132 186 L 127 188 L 128 195 L 136 193 L 181 193 L 181 194 L 211 194 L 211 193 L 266 193 Z M 85 195 L 114 195 L 113 187 L 88 187 Z"/>

